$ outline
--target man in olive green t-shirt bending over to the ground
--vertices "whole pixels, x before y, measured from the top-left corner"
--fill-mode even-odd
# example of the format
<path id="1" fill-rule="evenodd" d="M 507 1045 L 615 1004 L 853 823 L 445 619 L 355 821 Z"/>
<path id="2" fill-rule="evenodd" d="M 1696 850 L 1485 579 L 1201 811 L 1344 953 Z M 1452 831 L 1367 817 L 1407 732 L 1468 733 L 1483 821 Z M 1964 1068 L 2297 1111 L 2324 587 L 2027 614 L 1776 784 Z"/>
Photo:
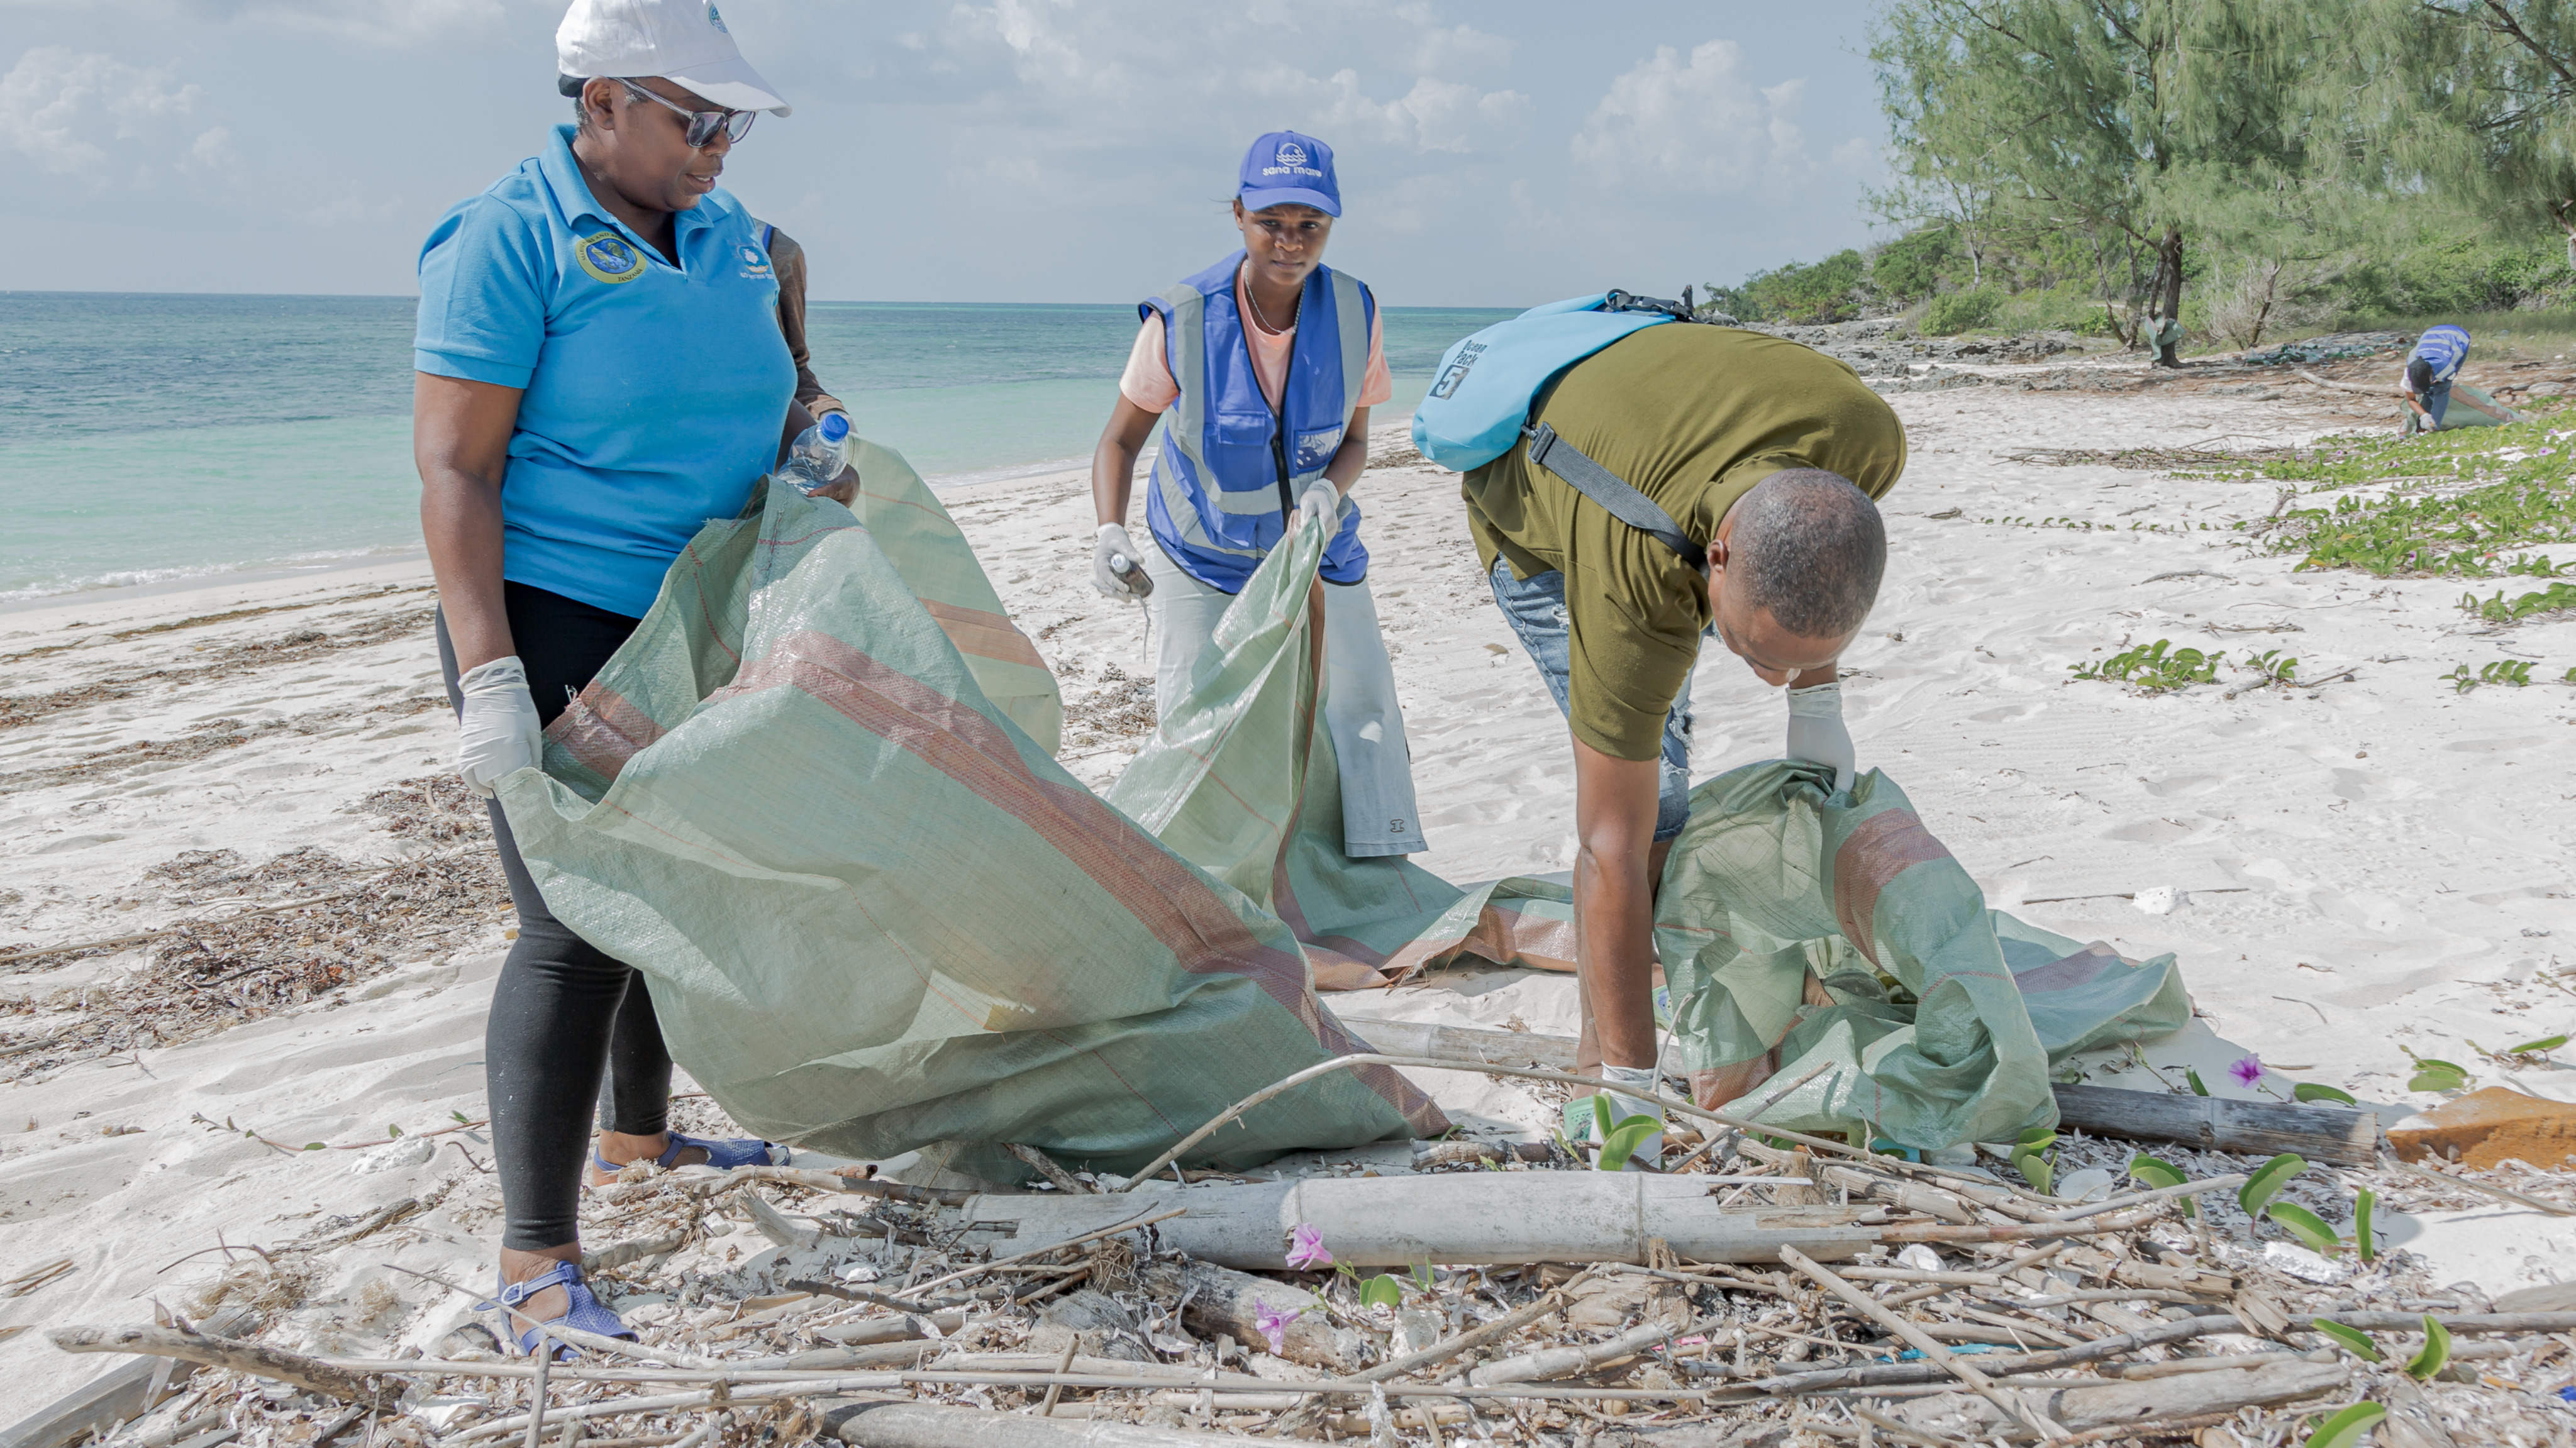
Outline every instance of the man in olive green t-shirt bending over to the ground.
<path id="1" fill-rule="evenodd" d="M 1651 1090 L 1654 884 L 1690 819 L 1700 636 L 1790 685 L 1788 755 L 1832 763 L 1834 788 L 1850 788 L 1834 662 L 1878 600 L 1888 544 L 1873 497 L 1904 472 L 1906 435 L 1844 363 L 1710 325 L 1592 353 L 1530 423 L 1643 492 L 1698 549 L 1613 518 L 1528 448 L 1466 474 L 1494 600 L 1574 729 L 1579 1059 Z"/>

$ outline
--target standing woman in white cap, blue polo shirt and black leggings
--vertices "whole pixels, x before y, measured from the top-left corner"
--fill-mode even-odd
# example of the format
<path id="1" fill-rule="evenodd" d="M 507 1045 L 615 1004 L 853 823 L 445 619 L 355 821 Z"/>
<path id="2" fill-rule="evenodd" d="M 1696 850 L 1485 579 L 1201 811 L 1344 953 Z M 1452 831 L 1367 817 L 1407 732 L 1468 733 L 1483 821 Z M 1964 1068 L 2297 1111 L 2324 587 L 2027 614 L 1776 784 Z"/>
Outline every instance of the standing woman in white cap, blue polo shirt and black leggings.
<path id="1" fill-rule="evenodd" d="M 732 518 L 806 428 L 760 224 L 716 175 L 786 103 L 706 0 L 574 0 L 556 31 L 577 124 L 451 209 L 420 250 L 412 448 L 438 652 L 477 794 L 626 642 L 706 518 Z M 832 492 L 848 502 L 853 477 Z M 580 1275 L 590 1103 L 600 1172 L 770 1159 L 667 1131 L 670 1054 L 644 982 L 546 912 L 492 804 L 518 943 L 484 1077 L 502 1183 L 500 1301 L 626 1332 Z"/>

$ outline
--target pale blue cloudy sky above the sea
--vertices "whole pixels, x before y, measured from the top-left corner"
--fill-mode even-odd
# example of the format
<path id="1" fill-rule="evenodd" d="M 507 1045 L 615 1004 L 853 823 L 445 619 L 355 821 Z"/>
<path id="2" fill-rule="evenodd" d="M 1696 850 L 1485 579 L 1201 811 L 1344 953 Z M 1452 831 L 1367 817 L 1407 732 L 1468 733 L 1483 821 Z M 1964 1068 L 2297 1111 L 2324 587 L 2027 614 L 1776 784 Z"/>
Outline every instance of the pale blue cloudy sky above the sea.
<path id="1" fill-rule="evenodd" d="M 1126 301 L 1234 245 L 1244 144 L 1340 155 L 1332 260 L 1510 307 L 1868 237 L 1865 0 L 721 0 L 796 106 L 724 183 L 814 294 Z M 0 289 L 410 294 L 531 155 L 562 0 L 0 0 Z"/>

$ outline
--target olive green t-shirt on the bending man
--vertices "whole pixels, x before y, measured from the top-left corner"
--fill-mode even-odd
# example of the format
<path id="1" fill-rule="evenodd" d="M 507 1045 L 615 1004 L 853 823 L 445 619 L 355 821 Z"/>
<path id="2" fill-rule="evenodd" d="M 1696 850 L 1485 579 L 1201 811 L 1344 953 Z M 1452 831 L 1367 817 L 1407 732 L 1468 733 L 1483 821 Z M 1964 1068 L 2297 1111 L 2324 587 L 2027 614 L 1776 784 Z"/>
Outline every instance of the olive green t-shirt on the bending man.
<path id="1" fill-rule="evenodd" d="M 1765 477 L 1816 466 L 1883 497 L 1906 469 L 1906 430 L 1860 376 L 1765 332 L 1667 325 L 1574 363 L 1535 423 L 1656 500 L 1705 544 Z M 1690 683 L 1708 629 L 1708 580 L 1654 536 L 1512 451 L 1466 474 L 1476 557 L 1515 577 L 1566 575 L 1574 737 L 1651 760 L 1664 711 Z"/>

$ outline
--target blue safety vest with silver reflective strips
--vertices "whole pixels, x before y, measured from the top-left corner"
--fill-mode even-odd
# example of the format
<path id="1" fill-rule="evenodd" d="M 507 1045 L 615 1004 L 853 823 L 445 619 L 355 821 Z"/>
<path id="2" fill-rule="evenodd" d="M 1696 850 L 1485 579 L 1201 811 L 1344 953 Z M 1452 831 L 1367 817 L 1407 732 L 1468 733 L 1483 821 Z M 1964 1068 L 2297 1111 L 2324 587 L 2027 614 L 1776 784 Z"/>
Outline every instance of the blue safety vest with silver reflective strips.
<path id="1" fill-rule="evenodd" d="M 1218 593 L 1242 593 L 1288 531 L 1288 510 L 1342 451 L 1368 379 L 1368 330 L 1378 309 L 1360 281 L 1314 268 L 1298 301 L 1288 384 L 1273 410 L 1234 307 L 1242 265 L 1244 252 L 1234 252 L 1136 307 L 1139 322 L 1162 317 L 1164 361 L 1180 384 L 1162 420 L 1144 515 L 1172 562 Z M 1352 502 L 1324 549 L 1324 580 L 1363 577 L 1368 549 L 1360 546 L 1360 508 Z"/>

